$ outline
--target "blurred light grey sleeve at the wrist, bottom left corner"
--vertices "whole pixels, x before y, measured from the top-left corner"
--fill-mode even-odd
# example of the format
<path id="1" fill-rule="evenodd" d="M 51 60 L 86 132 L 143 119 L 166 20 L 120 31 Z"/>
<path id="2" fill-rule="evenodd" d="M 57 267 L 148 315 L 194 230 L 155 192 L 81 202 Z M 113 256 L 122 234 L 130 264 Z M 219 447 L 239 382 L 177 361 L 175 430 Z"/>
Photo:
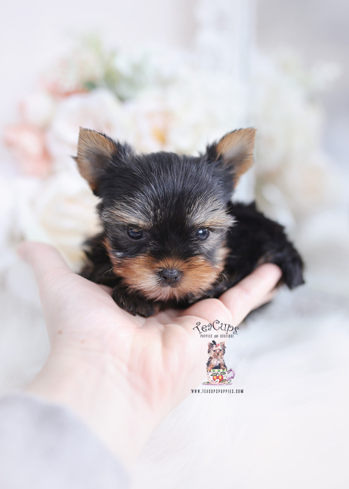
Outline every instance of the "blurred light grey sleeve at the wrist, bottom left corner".
<path id="1" fill-rule="evenodd" d="M 125 489 L 127 473 L 75 413 L 27 394 L 0 399 L 1 489 Z"/>

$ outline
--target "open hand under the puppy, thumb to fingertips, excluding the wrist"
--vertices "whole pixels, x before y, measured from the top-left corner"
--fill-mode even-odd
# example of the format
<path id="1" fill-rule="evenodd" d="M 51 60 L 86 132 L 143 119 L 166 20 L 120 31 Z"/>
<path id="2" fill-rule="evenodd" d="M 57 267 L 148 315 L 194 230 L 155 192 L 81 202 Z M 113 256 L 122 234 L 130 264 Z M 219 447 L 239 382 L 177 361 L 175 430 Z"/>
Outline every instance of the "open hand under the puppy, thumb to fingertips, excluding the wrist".
<path id="1" fill-rule="evenodd" d="M 97 367 L 164 412 L 205 374 L 207 343 L 194 331 L 196 323 L 238 325 L 270 298 L 281 276 L 275 265 L 263 265 L 219 299 L 143 318 L 121 310 L 108 288 L 73 273 L 52 246 L 24 245 L 21 253 L 36 274 L 53 355 Z"/>

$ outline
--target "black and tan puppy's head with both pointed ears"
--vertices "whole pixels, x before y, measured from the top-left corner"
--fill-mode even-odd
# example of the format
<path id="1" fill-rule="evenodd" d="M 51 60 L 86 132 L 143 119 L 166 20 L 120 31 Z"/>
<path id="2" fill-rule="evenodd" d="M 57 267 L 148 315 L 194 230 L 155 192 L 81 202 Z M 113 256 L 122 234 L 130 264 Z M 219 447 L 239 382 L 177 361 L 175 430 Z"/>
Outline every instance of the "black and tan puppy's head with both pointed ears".
<path id="1" fill-rule="evenodd" d="M 76 161 L 101 198 L 104 245 L 113 269 L 148 299 L 199 296 L 225 263 L 233 224 L 227 203 L 253 163 L 254 129 L 226 134 L 204 155 L 136 155 L 81 129 Z"/>

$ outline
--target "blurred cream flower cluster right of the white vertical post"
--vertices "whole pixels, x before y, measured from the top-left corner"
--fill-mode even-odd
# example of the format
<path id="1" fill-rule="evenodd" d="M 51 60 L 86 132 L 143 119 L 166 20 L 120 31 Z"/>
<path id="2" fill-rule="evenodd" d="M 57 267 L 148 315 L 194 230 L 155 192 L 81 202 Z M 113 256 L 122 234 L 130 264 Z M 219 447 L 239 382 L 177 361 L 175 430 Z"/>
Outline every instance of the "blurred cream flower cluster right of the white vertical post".
<path id="1" fill-rule="evenodd" d="M 255 60 L 252 120 L 256 141 L 256 200 L 270 217 L 292 226 L 336 198 L 334 174 L 320 150 L 323 112 L 317 73 L 289 52 Z M 320 67 L 319 67 L 320 69 Z M 319 77 L 324 81 L 324 70 Z"/>

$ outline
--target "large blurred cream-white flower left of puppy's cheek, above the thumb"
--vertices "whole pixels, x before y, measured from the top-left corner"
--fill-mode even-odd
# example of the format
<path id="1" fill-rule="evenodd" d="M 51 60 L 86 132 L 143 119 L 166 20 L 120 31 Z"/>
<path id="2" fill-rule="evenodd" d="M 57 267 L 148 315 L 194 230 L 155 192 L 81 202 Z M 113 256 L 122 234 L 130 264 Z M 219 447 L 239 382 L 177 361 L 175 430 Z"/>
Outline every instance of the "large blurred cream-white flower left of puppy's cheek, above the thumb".
<path id="1" fill-rule="evenodd" d="M 78 174 L 61 171 L 45 180 L 18 178 L 12 192 L 18 196 L 14 221 L 22 239 L 57 246 L 77 270 L 82 242 L 99 230 L 98 199 L 87 182 Z"/>

